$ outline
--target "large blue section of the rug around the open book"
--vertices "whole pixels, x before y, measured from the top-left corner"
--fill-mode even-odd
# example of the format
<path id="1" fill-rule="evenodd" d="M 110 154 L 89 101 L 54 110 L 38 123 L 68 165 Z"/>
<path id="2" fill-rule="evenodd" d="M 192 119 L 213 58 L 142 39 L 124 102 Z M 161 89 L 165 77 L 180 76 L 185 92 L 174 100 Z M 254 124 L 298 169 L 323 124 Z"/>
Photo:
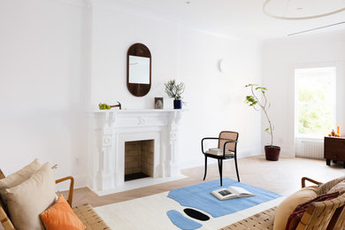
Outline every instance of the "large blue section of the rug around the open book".
<path id="1" fill-rule="evenodd" d="M 211 191 L 213 190 L 228 188 L 230 186 L 245 188 L 249 192 L 255 194 L 255 196 L 219 201 L 219 199 L 211 195 Z M 193 207 L 211 214 L 213 218 L 218 218 L 236 211 L 248 209 L 259 203 L 274 200 L 280 197 L 280 195 L 262 188 L 238 182 L 237 180 L 224 178 L 223 187 L 219 186 L 219 180 L 212 180 L 185 188 L 171 190 L 168 197 L 177 201 L 182 206 Z"/>

